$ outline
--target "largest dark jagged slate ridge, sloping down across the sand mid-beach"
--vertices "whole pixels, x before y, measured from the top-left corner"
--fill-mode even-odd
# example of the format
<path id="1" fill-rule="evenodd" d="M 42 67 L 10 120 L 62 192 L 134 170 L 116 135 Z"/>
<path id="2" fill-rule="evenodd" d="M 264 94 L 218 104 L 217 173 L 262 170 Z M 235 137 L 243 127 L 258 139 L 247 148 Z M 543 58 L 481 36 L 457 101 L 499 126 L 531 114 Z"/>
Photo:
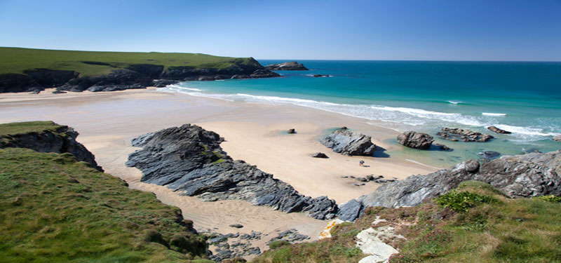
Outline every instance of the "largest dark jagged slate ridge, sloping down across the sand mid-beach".
<path id="1" fill-rule="evenodd" d="M 142 170 L 142 182 L 165 185 L 203 201 L 245 200 L 286 213 L 304 212 L 320 220 L 337 213 L 335 201 L 303 196 L 273 175 L 232 160 L 219 146 L 223 140 L 217 133 L 190 124 L 167 128 L 134 139 L 133 146 L 142 149 L 130 154 L 126 165 Z"/>

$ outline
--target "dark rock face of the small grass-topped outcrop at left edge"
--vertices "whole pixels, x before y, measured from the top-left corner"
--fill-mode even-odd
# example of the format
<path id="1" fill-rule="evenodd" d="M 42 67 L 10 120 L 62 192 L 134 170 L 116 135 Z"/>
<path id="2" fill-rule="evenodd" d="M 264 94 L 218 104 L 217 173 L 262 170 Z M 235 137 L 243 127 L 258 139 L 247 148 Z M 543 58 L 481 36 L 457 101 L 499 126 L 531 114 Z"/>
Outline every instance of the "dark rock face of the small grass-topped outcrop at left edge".
<path id="1" fill-rule="evenodd" d="M 39 152 L 54 152 L 57 154 L 73 154 L 78 161 L 90 163 L 92 168 L 103 172 L 95 162 L 95 156 L 80 142 L 76 142 L 79 133 L 68 126 L 56 126 L 54 130 L 41 130 L 27 133 L 0 136 L 1 148 L 27 148 Z"/>

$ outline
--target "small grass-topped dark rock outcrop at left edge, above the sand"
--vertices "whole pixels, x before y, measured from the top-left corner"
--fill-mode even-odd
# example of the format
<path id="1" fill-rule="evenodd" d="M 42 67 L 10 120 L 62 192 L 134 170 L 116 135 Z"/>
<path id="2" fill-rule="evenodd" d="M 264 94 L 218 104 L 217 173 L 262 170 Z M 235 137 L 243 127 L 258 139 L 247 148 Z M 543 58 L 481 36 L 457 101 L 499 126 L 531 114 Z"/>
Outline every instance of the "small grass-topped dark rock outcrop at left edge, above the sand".
<path id="1" fill-rule="evenodd" d="M 78 161 L 85 161 L 92 168 L 103 172 L 95 162 L 95 156 L 76 142 L 79 133 L 68 126 L 53 121 L 28 121 L 0 124 L 0 149 L 27 148 L 39 152 L 69 153 Z"/>

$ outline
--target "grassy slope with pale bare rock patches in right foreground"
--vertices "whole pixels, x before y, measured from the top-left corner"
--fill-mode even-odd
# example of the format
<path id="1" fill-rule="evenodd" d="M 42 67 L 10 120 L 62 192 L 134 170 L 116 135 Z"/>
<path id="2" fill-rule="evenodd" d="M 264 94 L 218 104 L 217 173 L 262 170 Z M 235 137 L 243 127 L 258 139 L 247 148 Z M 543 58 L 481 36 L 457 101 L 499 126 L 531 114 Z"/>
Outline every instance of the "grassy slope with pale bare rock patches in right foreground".
<path id="1" fill-rule="evenodd" d="M 358 262 L 356 234 L 372 227 L 396 227 L 407 238 L 387 243 L 400 250 L 388 263 L 410 262 L 561 262 L 561 198 L 507 198 L 482 182 L 412 208 L 368 208 L 354 224 L 339 224 L 332 238 L 283 245 L 255 263 Z"/>

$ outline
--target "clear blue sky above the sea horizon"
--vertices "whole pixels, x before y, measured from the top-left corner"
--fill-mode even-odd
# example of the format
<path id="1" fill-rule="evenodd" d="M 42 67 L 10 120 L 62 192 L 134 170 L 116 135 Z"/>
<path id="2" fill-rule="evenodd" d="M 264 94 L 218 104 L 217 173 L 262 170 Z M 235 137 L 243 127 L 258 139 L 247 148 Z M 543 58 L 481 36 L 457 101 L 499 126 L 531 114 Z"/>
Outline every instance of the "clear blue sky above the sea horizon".
<path id="1" fill-rule="evenodd" d="M 561 0 L 0 0 L 0 46 L 257 59 L 561 61 Z"/>

